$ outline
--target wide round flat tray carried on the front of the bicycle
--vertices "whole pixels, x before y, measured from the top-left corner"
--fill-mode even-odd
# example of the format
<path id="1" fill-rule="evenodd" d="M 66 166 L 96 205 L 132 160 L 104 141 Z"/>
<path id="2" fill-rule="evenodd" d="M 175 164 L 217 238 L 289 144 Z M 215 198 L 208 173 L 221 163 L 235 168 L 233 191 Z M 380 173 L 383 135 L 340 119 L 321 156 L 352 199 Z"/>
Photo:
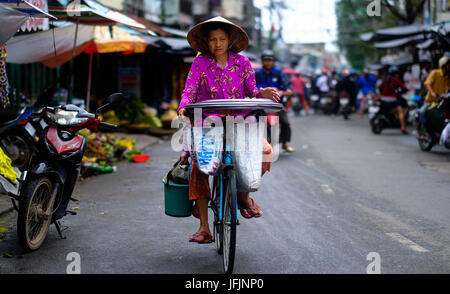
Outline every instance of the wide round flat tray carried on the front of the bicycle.
<path id="1" fill-rule="evenodd" d="M 203 112 L 263 110 L 275 113 L 280 112 L 283 105 L 271 99 L 215 99 L 185 106 L 189 112 L 193 112 L 195 108 L 201 108 Z"/>

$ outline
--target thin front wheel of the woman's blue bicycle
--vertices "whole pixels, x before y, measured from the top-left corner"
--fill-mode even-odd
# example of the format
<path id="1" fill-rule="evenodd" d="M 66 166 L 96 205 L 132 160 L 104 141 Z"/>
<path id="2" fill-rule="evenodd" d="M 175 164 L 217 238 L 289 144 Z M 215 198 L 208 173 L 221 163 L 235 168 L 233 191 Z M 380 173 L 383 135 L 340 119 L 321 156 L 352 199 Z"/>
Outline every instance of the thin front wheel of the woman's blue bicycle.
<path id="1" fill-rule="evenodd" d="M 236 173 L 229 169 L 224 179 L 223 221 L 222 221 L 222 246 L 223 268 L 226 274 L 231 274 L 234 267 L 236 252 L 236 224 L 237 224 L 237 190 Z"/>

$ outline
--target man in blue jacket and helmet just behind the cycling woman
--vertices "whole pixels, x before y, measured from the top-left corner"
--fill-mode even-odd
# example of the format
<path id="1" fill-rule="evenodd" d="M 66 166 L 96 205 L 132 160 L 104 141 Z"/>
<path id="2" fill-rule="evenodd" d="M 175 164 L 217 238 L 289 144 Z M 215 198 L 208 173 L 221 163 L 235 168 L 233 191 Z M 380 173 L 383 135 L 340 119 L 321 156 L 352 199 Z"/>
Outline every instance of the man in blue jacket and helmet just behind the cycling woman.
<path id="1" fill-rule="evenodd" d="M 279 69 L 275 68 L 275 55 L 272 51 L 266 50 L 261 56 L 263 68 L 255 73 L 256 85 L 258 89 L 273 87 L 281 92 L 283 97 L 280 103 L 284 108 L 279 113 L 280 117 L 280 143 L 286 152 L 295 152 L 295 149 L 288 145 L 291 141 L 291 125 L 289 123 L 286 105 L 290 97 L 294 94 L 292 92 L 291 81 Z M 269 133 L 270 134 L 270 133 Z"/>

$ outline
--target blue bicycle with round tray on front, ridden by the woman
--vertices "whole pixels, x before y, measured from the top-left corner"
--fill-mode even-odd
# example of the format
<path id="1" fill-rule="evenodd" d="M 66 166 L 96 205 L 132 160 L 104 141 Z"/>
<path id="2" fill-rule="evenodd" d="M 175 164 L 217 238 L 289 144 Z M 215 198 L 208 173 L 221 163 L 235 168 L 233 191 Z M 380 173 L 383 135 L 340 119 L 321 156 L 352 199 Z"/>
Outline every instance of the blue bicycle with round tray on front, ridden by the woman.
<path id="1" fill-rule="evenodd" d="M 269 99 L 220 99 L 209 100 L 196 104 L 187 105 L 186 110 L 192 112 L 194 109 L 202 109 L 202 114 L 208 112 L 221 112 L 222 121 L 231 111 L 249 111 L 257 119 L 265 113 L 275 113 L 283 109 L 280 103 Z M 232 274 L 236 255 L 236 235 L 238 225 L 238 201 L 237 201 L 237 179 L 236 166 L 233 163 L 233 150 L 226 138 L 233 138 L 234 128 L 227 129 L 224 126 L 224 146 L 222 163 L 217 174 L 213 177 L 211 189 L 211 200 L 209 208 L 214 214 L 213 242 L 216 243 L 217 252 L 222 255 L 223 270 L 225 274 Z M 232 140 L 231 140 L 232 141 Z M 262 152 L 262 150 L 261 150 Z"/>

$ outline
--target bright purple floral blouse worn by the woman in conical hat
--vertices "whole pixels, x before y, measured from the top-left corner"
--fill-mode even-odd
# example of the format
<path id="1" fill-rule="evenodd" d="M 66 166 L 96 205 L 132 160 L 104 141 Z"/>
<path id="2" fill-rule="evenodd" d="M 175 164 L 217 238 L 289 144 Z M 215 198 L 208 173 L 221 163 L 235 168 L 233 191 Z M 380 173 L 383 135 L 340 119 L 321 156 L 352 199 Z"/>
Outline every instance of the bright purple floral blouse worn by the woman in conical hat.
<path id="1" fill-rule="evenodd" d="M 205 100 L 255 98 L 258 94 L 247 57 L 229 51 L 228 63 L 222 69 L 212 55 L 202 54 L 192 63 L 178 109 Z"/>

